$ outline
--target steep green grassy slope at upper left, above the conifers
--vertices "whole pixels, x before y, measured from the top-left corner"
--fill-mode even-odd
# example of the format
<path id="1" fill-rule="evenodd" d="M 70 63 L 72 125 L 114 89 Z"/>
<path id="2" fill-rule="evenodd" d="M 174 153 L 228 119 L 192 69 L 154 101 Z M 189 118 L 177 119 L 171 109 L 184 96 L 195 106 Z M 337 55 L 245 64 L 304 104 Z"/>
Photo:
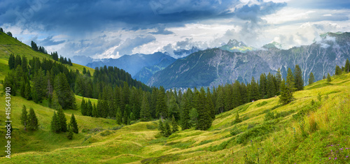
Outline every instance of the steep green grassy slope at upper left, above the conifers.
<path id="1" fill-rule="evenodd" d="M 24 55 L 25 57 L 27 57 L 28 61 L 33 57 L 38 57 L 40 59 L 52 59 L 52 57 L 50 57 L 49 54 L 36 52 L 32 50 L 31 47 L 29 47 L 29 45 L 25 45 L 19 40 L 8 36 L 6 33 L 0 32 L 0 80 L 3 80 L 9 71 L 8 57 L 10 57 L 10 54 L 18 54 L 20 55 L 20 57 Z M 73 64 L 73 66 L 66 66 L 73 70 L 78 69 L 80 73 L 83 72 L 83 68 L 85 67 L 87 70 L 90 70 L 91 75 L 94 75 L 94 69 L 86 66 L 81 66 L 79 64 Z"/>

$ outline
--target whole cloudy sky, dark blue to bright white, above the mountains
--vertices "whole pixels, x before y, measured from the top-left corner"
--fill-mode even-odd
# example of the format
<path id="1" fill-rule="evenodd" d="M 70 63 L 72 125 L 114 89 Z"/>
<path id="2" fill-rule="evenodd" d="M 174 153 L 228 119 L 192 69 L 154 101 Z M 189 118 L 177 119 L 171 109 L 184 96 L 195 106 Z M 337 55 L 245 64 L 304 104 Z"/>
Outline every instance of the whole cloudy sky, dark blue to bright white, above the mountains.
<path id="1" fill-rule="evenodd" d="M 230 39 L 287 49 L 327 31 L 350 31 L 350 1 L 0 1 L 0 27 L 65 57 L 218 47 Z"/>

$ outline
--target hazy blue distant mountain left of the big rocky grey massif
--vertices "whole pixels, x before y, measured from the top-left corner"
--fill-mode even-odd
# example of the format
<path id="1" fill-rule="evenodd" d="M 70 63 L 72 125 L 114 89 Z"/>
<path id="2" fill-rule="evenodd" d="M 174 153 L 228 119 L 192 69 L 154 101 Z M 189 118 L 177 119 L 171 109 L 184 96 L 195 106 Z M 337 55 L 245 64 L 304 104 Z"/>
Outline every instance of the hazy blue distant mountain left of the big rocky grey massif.
<path id="1" fill-rule="evenodd" d="M 118 59 L 103 59 L 103 61 L 94 61 L 86 66 L 90 68 L 100 67 L 100 66 L 116 66 L 121 68 L 130 75 L 136 75 L 142 68 L 145 66 L 153 66 L 156 64 L 160 64 L 163 59 L 167 59 L 169 61 L 174 60 L 173 57 L 162 53 L 155 52 L 153 54 L 132 54 L 132 55 L 124 55 Z"/>

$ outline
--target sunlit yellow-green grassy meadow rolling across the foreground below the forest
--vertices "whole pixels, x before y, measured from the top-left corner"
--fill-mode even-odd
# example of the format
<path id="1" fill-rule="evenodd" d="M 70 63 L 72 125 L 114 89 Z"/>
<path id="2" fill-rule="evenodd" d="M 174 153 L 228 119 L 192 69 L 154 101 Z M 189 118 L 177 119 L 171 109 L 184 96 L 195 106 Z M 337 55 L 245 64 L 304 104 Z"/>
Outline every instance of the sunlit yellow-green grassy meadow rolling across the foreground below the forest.
<path id="1" fill-rule="evenodd" d="M 288 105 L 279 105 L 279 98 L 247 103 L 218 114 L 208 131 L 189 129 L 168 138 L 156 137 L 158 121 L 120 128 L 112 119 L 65 111 L 67 120 L 74 112 L 78 121 L 80 132 L 73 140 L 50 131 L 52 109 L 15 96 L 13 155 L 0 163 L 349 163 L 350 74 L 315 82 L 294 96 Z M 0 97 L 5 100 L 3 93 Z M 23 131 L 22 104 L 34 108 L 40 130 Z"/>

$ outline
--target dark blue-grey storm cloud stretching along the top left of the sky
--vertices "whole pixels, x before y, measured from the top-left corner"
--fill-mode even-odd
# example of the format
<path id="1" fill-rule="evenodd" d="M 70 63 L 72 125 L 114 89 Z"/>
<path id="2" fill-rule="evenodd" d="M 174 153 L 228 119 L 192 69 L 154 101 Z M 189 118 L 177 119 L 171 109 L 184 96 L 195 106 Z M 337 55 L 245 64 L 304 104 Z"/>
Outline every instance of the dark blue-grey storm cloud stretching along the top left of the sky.
<path id="1" fill-rule="evenodd" d="M 228 9 L 237 3 L 232 0 L 4 0 L 0 2 L 0 20 L 3 24 L 20 23 L 26 29 L 31 24 L 42 24 L 45 30 L 73 33 L 104 29 L 111 24 L 120 29 L 142 29 L 155 24 L 225 17 L 232 15 Z"/>

